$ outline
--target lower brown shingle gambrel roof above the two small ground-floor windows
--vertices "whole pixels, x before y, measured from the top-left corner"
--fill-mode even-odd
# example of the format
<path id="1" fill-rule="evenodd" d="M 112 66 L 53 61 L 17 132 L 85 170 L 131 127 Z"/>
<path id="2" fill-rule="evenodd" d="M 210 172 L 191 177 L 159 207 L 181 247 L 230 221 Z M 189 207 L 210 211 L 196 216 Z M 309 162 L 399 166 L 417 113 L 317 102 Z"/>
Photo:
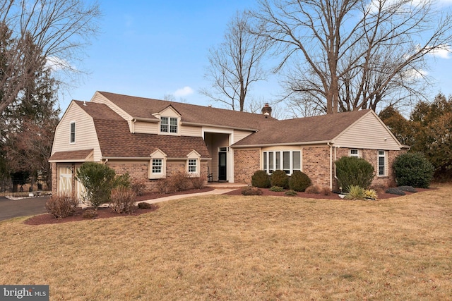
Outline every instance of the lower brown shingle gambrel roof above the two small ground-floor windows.
<path id="1" fill-rule="evenodd" d="M 93 118 L 104 157 L 144 158 L 160 149 L 169 158 L 184 158 L 193 150 L 210 158 L 202 137 L 131 133 L 127 121 L 106 104 L 73 102 Z"/>

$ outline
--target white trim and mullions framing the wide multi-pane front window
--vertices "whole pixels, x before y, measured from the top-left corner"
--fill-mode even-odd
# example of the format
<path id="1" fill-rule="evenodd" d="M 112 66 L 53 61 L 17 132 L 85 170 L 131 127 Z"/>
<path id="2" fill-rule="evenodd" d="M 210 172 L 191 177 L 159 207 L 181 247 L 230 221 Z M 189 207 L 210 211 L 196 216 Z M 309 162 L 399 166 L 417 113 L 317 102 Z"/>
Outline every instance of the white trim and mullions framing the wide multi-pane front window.
<path id="1" fill-rule="evenodd" d="M 284 154 L 289 153 L 289 168 L 285 167 Z M 294 154 L 299 153 L 299 168 L 294 168 Z M 280 159 L 277 160 L 277 154 L 279 154 Z M 286 154 L 287 156 L 287 154 Z M 270 159 L 273 163 L 273 166 L 270 166 Z M 266 171 L 268 174 L 272 174 L 273 171 L 277 170 L 277 161 L 279 163 L 280 170 L 285 171 L 287 175 L 291 176 L 294 171 L 302 171 L 302 150 L 300 149 L 280 149 L 280 150 L 272 150 L 272 151 L 263 151 L 262 152 L 262 169 Z"/>

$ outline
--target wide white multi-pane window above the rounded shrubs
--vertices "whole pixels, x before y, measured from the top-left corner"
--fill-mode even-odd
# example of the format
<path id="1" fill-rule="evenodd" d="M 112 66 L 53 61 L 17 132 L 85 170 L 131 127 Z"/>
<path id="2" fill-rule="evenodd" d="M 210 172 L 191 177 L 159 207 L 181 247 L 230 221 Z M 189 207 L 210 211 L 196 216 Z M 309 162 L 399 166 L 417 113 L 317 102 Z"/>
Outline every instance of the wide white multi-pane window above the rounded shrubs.
<path id="1" fill-rule="evenodd" d="M 267 173 L 273 173 L 276 170 L 283 170 L 288 175 L 294 171 L 301 171 L 301 152 L 263 152 L 263 170 Z"/>

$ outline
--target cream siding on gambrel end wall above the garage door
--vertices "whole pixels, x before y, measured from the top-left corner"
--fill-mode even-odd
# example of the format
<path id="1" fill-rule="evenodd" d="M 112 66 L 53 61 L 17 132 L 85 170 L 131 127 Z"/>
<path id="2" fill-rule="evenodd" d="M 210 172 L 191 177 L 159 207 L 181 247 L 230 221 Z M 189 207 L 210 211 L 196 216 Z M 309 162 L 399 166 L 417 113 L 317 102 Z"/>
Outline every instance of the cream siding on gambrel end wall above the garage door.
<path id="1" fill-rule="evenodd" d="M 76 142 L 70 143 L 71 122 L 76 123 Z M 93 118 L 72 102 L 57 126 L 52 154 L 82 149 L 94 149 L 94 161 L 100 161 L 100 145 L 97 140 Z"/>

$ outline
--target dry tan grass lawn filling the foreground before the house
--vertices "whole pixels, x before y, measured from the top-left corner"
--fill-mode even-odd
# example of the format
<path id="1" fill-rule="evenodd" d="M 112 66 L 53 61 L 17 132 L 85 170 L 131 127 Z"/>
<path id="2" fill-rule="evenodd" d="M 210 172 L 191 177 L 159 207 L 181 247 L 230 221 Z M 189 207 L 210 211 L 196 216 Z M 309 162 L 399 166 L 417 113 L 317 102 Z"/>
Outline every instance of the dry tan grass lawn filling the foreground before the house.
<path id="1" fill-rule="evenodd" d="M 51 300 L 451 300 L 452 185 L 376 202 L 204 196 L 0 222 L 0 284 Z"/>

